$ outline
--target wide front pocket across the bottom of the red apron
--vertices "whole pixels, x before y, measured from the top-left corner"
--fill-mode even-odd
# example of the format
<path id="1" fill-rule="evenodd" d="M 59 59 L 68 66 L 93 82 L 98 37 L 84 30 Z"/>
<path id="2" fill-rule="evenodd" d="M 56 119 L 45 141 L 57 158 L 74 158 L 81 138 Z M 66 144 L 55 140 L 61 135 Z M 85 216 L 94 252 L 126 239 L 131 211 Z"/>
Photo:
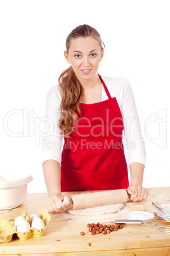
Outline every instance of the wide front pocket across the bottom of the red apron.
<path id="1" fill-rule="evenodd" d="M 61 187 L 62 192 L 120 189 L 119 166 L 92 172 L 62 167 Z"/>

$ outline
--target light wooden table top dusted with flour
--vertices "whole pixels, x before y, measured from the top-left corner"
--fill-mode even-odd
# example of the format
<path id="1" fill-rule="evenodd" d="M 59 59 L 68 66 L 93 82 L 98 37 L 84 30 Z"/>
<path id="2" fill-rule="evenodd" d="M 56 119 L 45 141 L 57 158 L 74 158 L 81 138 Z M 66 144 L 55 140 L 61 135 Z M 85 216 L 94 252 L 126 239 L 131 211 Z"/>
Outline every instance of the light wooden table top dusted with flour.
<path id="1" fill-rule="evenodd" d="M 110 220 L 115 218 L 126 218 L 126 213 L 131 210 L 152 212 L 152 201 L 170 204 L 169 195 L 170 187 L 149 188 L 149 196 L 145 201 L 126 203 L 119 213 L 89 217 L 67 212 L 51 215 L 44 236 L 21 241 L 14 235 L 10 243 L 0 244 L 0 255 L 170 255 L 170 234 L 155 231 L 146 225 L 125 225 L 117 232 L 95 236 L 91 235 L 87 227 L 92 222 L 110 224 Z M 0 217 L 17 217 L 23 211 L 27 211 L 28 215 L 39 213 L 46 198 L 46 193 L 28 194 L 22 206 L 0 211 Z M 85 232 L 84 236 L 80 235 L 81 231 Z"/>

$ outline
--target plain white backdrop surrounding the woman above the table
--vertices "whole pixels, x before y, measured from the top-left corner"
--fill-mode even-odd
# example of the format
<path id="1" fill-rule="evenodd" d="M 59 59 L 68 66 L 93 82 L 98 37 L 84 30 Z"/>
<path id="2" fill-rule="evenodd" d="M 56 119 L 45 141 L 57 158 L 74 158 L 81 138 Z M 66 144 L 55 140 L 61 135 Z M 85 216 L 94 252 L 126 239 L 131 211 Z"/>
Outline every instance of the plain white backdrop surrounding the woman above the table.
<path id="1" fill-rule="evenodd" d="M 46 192 L 46 95 L 68 67 L 67 35 L 89 24 L 106 45 L 99 73 L 131 83 L 147 152 L 143 186 L 169 186 L 169 7 L 164 0 L 1 0 L 0 169 L 32 174 L 28 192 Z"/>

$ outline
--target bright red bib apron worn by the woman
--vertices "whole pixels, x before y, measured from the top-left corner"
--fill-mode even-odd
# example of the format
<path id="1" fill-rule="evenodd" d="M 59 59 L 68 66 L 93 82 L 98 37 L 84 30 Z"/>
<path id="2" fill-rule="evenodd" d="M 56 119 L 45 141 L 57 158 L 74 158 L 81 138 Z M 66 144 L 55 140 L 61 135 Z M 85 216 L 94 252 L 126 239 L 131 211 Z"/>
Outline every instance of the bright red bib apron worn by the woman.
<path id="1" fill-rule="evenodd" d="M 62 192 L 129 187 L 121 110 L 101 76 L 100 79 L 108 99 L 94 104 L 81 103 L 81 117 L 74 124 L 71 138 L 64 138 Z"/>

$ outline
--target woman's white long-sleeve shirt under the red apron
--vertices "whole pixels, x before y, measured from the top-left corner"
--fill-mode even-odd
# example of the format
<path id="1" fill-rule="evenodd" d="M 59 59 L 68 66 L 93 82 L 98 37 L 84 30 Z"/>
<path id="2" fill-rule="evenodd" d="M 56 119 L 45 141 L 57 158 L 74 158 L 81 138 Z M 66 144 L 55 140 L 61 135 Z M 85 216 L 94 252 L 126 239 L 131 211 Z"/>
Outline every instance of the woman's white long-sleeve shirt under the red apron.
<path id="1" fill-rule="evenodd" d="M 142 138 L 140 121 L 134 102 L 131 85 L 124 78 L 108 78 L 101 76 L 110 92 L 111 97 L 116 97 L 121 109 L 124 122 L 124 148 L 128 150 L 128 164 L 140 162 L 145 166 L 145 143 Z M 101 101 L 107 100 L 107 94 L 102 87 Z M 44 136 L 42 138 L 42 162 L 57 160 L 61 164 L 63 134 L 58 128 L 60 103 L 62 96 L 59 85 L 49 89 L 46 99 L 46 117 L 44 122 Z"/>

